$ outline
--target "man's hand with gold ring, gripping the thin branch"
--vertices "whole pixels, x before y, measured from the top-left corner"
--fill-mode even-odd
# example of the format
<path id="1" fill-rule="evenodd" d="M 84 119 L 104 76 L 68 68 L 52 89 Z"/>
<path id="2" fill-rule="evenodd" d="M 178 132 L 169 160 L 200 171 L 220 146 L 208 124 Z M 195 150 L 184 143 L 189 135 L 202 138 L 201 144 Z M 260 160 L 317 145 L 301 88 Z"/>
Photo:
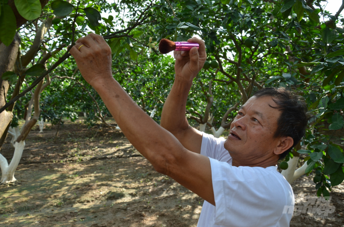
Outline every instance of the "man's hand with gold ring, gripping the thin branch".
<path id="1" fill-rule="evenodd" d="M 97 80 L 112 78 L 111 48 L 102 36 L 91 33 L 79 38 L 69 52 L 82 77 L 92 86 Z"/>

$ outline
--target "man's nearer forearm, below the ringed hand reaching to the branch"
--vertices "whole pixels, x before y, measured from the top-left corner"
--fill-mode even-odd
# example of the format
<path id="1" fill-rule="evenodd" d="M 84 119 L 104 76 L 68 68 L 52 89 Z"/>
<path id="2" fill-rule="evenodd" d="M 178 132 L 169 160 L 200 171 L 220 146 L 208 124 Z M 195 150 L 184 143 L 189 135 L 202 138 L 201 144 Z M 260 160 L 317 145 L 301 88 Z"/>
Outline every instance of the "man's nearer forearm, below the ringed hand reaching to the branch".
<path id="1" fill-rule="evenodd" d="M 97 81 L 93 87 L 116 119 L 126 138 L 156 168 L 164 154 L 180 155 L 185 149 L 169 132 L 156 124 L 113 78 Z M 159 166 L 158 166 L 159 167 Z"/>

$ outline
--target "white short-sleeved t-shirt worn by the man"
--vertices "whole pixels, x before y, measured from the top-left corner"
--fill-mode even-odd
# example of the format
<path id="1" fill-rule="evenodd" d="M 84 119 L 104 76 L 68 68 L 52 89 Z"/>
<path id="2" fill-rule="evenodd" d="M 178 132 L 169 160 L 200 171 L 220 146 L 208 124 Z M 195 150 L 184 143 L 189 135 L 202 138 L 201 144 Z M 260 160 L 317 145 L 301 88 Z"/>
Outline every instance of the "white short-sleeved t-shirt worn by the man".
<path id="1" fill-rule="evenodd" d="M 289 226 L 294 194 L 277 166 L 232 166 L 224 142 L 203 133 L 201 154 L 210 159 L 216 206 L 204 201 L 197 227 Z"/>

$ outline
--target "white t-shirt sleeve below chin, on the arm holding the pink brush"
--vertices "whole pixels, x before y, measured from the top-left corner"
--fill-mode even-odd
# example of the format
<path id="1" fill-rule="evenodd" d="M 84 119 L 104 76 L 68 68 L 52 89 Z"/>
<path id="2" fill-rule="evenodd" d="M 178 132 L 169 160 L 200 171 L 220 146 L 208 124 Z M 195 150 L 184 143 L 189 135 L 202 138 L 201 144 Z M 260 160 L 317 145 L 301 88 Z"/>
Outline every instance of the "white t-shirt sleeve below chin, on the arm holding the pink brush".
<path id="1" fill-rule="evenodd" d="M 232 157 L 225 149 L 225 138 L 215 138 L 213 135 L 203 133 L 201 154 L 219 161 L 230 162 Z"/>

